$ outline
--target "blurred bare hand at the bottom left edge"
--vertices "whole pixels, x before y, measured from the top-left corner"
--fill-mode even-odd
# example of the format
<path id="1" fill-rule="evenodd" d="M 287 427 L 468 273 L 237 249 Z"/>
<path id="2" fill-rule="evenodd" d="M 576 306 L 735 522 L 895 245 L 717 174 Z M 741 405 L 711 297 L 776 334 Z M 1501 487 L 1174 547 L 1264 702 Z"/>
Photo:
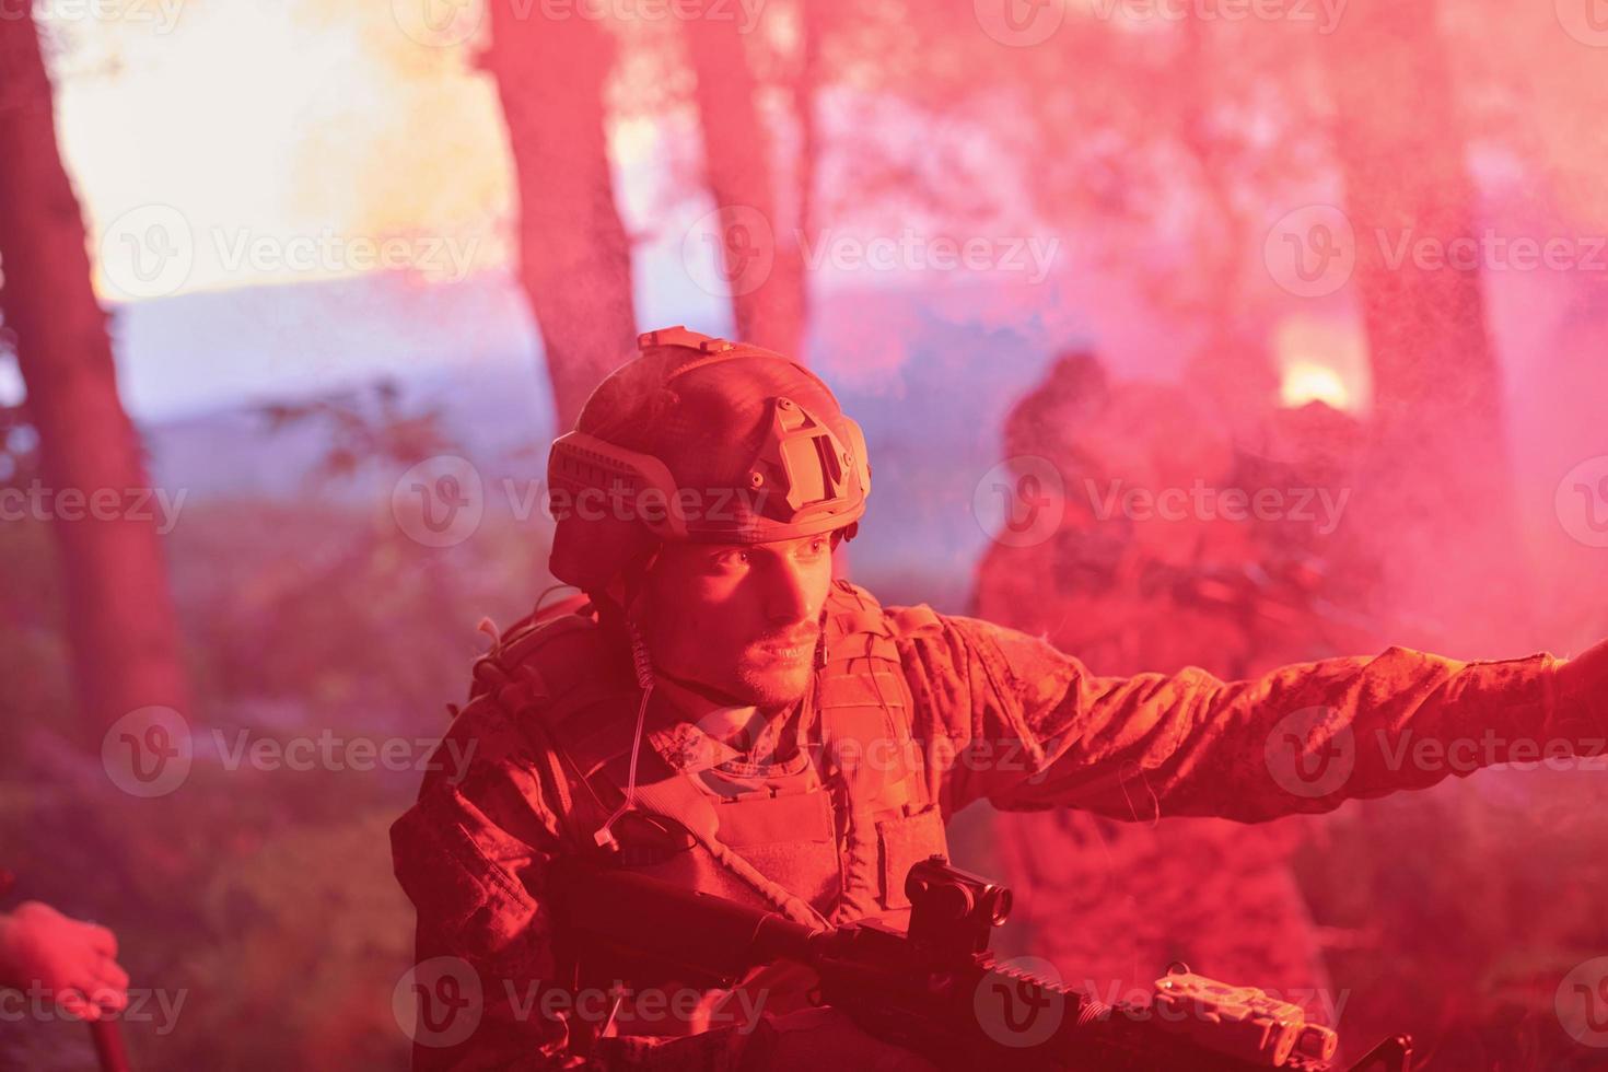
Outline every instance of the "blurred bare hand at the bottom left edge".
<path id="1" fill-rule="evenodd" d="M 37 900 L 0 914 L 0 982 L 19 990 L 40 987 L 66 1013 L 87 1021 L 129 1004 L 129 974 L 117 964 L 116 935 Z"/>

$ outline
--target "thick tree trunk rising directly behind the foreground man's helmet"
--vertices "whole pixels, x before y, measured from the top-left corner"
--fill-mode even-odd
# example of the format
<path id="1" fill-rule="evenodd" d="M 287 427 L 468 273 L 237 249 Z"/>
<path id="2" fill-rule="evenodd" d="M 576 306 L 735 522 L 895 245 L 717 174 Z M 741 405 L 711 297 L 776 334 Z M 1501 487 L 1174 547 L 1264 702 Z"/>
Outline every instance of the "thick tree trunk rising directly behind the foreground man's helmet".
<path id="1" fill-rule="evenodd" d="M 519 190 L 519 281 L 535 317 L 558 428 L 637 349 L 630 246 L 614 207 L 603 92 L 614 42 L 595 19 L 490 5 L 497 79 Z"/>

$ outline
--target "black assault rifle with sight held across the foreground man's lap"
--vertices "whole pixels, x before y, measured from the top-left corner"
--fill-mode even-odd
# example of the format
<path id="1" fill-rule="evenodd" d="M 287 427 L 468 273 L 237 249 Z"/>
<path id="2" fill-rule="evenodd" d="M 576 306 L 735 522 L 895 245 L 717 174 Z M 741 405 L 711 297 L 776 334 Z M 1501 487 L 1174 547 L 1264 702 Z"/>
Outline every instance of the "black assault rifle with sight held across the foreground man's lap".
<path id="1" fill-rule="evenodd" d="M 1339 1072 L 1339 1045 L 1299 1006 L 1183 966 L 1148 1003 L 1105 1004 L 997 963 L 989 931 L 1010 913 L 1003 886 L 934 855 L 910 868 L 910 929 L 876 921 L 810 929 L 786 916 L 624 869 L 555 868 L 550 894 L 576 948 L 645 959 L 683 980 L 732 987 L 775 959 L 812 968 L 810 1000 L 944 1069 L 1024 1072 Z M 1386 1038 L 1349 1072 L 1410 1072 L 1412 1041 Z"/>

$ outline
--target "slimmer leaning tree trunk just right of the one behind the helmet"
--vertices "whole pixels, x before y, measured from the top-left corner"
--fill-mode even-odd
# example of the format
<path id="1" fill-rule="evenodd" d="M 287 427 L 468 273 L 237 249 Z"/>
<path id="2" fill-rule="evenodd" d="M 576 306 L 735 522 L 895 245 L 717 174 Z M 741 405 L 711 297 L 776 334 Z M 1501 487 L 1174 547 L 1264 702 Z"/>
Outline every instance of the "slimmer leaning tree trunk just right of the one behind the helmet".
<path id="1" fill-rule="evenodd" d="M 704 178 L 719 212 L 736 336 L 802 360 L 804 259 L 798 228 L 777 204 L 772 145 L 759 119 L 757 84 L 736 18 L 716 6 L 688 19 L 687 48 L 696 74 Z M 814 153 L 814 146 L 807 151 Z M 799 203 L 807 199 L 799 191 Z"/>

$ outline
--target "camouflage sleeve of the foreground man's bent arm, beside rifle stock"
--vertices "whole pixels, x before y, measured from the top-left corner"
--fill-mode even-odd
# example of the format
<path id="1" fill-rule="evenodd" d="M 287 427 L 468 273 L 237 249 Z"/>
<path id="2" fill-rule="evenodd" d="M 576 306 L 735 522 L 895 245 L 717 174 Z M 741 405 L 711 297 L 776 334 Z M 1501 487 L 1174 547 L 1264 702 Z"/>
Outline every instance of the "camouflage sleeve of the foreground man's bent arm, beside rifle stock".
<path id="1" fill-rule="evenodd" d="M 577 1013 L 600 1021 L 608 998 L 558 984 L 542 897 L 544 871 L 564 850 L 552 797 L 511 720 L 473 704 L 437 747 L 418 802 L 392 824 L 396 876 L 418 913 L 415 964 L 397 988 L 413 1069 L 759 1067 L 769 1022 L 748 1033 L 603 1038 L 587 1061 L 569 1054 L 571 1032 L 590 1037 Z"/>

